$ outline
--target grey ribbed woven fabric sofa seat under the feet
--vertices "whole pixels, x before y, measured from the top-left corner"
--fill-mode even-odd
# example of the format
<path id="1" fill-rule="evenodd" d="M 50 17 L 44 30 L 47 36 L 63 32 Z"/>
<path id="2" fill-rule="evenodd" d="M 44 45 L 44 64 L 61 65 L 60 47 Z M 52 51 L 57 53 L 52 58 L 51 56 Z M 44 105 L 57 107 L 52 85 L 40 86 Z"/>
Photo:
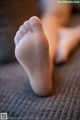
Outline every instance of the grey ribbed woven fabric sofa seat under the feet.
<path id="1" fill-rule="evenodd" d="M 0 66 L 0 113 L 9 120 L 80 120 L 80 49 L 55 67 L 49 97 L 36 96 L 18 63 Z"/>

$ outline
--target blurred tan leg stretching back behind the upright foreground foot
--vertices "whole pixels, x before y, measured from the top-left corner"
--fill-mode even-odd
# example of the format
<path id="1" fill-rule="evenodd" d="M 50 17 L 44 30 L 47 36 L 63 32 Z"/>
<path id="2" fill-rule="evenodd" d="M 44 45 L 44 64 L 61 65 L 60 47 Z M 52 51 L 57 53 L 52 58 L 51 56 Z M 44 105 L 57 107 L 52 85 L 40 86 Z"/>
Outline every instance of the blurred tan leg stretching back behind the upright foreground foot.
<path id="1" fill-rule="evenodd" d="M 70 20 L 70 4 L 58 4 L 57 0 L 39 0 L 43 4 L 41 16 L 44 32 L 48 38 L 50 57 L 54 60 L 58 42 L 58 29 Z"/>

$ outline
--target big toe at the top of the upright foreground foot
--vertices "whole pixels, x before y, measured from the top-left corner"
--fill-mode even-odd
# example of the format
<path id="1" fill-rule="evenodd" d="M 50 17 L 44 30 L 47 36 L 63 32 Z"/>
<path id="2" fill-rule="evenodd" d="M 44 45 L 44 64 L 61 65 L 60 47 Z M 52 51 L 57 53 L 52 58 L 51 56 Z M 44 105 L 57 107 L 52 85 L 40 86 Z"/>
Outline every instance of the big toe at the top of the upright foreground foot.
<path id="1" fill-rule="evenodd" d="M 42 24 L 38 17 L 31 17 L 29 23 L 33 32 L 38 32 L 42 30 Z"/>

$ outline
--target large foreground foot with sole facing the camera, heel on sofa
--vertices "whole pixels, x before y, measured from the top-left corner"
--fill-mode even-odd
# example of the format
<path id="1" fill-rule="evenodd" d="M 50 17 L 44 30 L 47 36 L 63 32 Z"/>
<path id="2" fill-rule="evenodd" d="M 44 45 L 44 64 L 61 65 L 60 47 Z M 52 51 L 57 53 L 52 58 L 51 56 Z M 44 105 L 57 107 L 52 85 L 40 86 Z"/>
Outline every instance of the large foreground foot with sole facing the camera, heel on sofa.
<path id="1" fill-rule="evenodd" d="M 14 41 L 15 56 L 26 70 L 33 91 L 40 96 L 49 95 L 52 90 L 52 63 L 41 21 L 32 17 L 24 22 Z"/>

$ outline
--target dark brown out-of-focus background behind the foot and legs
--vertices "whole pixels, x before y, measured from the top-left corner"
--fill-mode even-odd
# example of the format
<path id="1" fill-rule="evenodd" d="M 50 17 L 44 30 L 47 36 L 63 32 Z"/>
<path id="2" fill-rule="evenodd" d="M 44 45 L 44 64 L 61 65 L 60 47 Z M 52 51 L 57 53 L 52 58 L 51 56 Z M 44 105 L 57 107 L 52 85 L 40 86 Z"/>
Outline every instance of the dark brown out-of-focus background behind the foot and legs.
<path id="1" fill-rule="evenodd" d="M 37 4 L 38 2 L 38 4 Z M 15 60 L 14 36 L 19 26 L 31 16 L 39 15 L 38 0 L 0 0 L 0 64 Z M 74 21 L 80 15 L 80 4 L 73 4 Z"/>

